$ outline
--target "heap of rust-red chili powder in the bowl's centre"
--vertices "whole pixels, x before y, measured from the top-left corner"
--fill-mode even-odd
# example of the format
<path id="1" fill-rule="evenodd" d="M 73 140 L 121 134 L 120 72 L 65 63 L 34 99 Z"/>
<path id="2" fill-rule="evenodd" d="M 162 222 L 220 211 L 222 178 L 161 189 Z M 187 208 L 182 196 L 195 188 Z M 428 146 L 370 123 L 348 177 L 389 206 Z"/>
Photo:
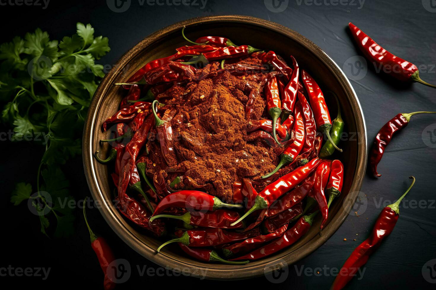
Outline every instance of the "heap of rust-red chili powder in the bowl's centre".
<path id="1" fill-rule="evenodd" d="M 240 63 L 261 65 L 251 58 Z M 219 63 L 215 62 L 200 73 L 216 70 Z M 161 112 L 173 130 L 178 166 L 169 170 L 159 145 L 154 144 L 150 148 L 154 154 L 148 155 L 147 163 L 152 166 L 147 166 L 147 173 L 162 173 L 168 189 L 175 177 L 183 176 L 177 190 L 201 190 L 230 201 L 233 183 L 272 171 L 278 162 L 274 150 L 262 140 L 246 141 L 245 104 L 250 91 L 259 86 L 261 74 L 236 76 L 224 71 L 198 82 L 175 84 L 159 95 L 157 99 L 167 104 Z M 262 93 L 256 99 L 251 120 L 265 117 L 265 107 Z"/>

